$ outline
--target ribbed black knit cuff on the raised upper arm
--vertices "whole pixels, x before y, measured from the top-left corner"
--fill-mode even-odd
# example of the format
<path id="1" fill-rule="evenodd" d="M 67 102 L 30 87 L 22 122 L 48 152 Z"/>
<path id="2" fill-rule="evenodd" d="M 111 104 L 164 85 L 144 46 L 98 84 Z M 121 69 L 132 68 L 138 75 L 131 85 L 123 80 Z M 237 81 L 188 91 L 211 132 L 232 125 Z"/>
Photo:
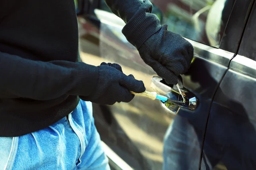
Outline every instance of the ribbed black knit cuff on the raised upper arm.
<path id="1" fill-rule="evenodd" d="M 128 42 L 134 45 L 138 50 L 149 37 L 162 28 L 160 20 L 155 14 L 151 14 L 151 11 L 151 2 L 145 0 L 140 9 L 122 29 L 122 33 L 125 35 Z"/>

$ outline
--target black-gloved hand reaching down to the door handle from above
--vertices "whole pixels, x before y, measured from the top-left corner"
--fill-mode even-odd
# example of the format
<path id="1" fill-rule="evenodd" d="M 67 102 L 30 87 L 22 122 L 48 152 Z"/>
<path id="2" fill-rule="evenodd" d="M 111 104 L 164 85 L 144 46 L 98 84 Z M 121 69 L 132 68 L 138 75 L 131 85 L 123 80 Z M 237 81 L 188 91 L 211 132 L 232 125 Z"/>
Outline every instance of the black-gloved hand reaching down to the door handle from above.
<path id="1" fill-rule="evenodd" d="M 167 25 L 148 38 L 138 51 L 160 77 L 175 85 L 177 76 L 189 69 L 194 54 L 192 44 L 179 34 L 167 31 Z"/>

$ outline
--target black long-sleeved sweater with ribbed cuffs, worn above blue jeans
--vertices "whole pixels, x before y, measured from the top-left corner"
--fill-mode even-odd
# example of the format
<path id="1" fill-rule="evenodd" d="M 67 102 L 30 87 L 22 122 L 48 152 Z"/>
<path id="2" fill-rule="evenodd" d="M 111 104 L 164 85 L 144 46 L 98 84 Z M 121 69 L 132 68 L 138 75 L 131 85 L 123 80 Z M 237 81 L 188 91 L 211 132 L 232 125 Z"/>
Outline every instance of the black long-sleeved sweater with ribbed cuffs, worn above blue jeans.
<path id="1" fill-rule="evenodd" d="M 137 48 L 159 30 L 148 0 L 106 3 L 125 20 L 123 33 Z M 134 36 L 141 31 L 147 34 Z M 79 95 L 94 91 L 98 68 L 78 56 L 74 0 L 0 1 L 0 136 L 52 125 L 76 108 Z"/>

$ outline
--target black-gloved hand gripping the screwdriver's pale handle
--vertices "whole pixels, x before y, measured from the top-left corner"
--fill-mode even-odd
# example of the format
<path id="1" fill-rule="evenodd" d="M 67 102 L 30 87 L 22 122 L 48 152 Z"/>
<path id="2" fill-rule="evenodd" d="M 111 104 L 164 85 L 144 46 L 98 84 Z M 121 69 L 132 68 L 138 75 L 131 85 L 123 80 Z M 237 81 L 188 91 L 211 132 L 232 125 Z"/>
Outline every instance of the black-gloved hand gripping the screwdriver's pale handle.
<path id="1" fill-rule="evenodd" d="M 99 68 L 99 81 L 96 90 L 90 96 L 79 96 L 84 101 L 113 105 L 116 102 L 130 102 L 134 94 L 145 91 L 142 81 L 134 79 L 133 75 L 126 76 L 118 64 L 102 62 Z"/>

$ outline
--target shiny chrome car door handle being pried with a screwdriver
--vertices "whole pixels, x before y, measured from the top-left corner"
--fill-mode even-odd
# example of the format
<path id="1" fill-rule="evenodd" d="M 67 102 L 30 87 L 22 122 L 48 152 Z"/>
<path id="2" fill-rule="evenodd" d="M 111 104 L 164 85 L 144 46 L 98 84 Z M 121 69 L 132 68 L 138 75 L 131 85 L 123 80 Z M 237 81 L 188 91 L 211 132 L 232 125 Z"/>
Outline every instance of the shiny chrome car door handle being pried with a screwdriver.
<path id="1" fill-rule="evenodd" d="M 161 95 L 167 96 L 170 100 L 167 102 L 162 102 L 163 107 L 172 114 L 177 114 L 180 108 L 194 111 L 198 106 L 198 99 L 183 87 L 180 79 L 178 80 L 178 84 L 180 86 L 180 90 L 182 95 L 184 96 L 185 101 L 183 102 L 183 98 L 180 95 L 178 88 L 176 85 L 170 87 L 162 82 L 162 78 L 158 76 L 154 76 L 151 79 L 151 88 L 153 88 L 157 93 Z"/>

